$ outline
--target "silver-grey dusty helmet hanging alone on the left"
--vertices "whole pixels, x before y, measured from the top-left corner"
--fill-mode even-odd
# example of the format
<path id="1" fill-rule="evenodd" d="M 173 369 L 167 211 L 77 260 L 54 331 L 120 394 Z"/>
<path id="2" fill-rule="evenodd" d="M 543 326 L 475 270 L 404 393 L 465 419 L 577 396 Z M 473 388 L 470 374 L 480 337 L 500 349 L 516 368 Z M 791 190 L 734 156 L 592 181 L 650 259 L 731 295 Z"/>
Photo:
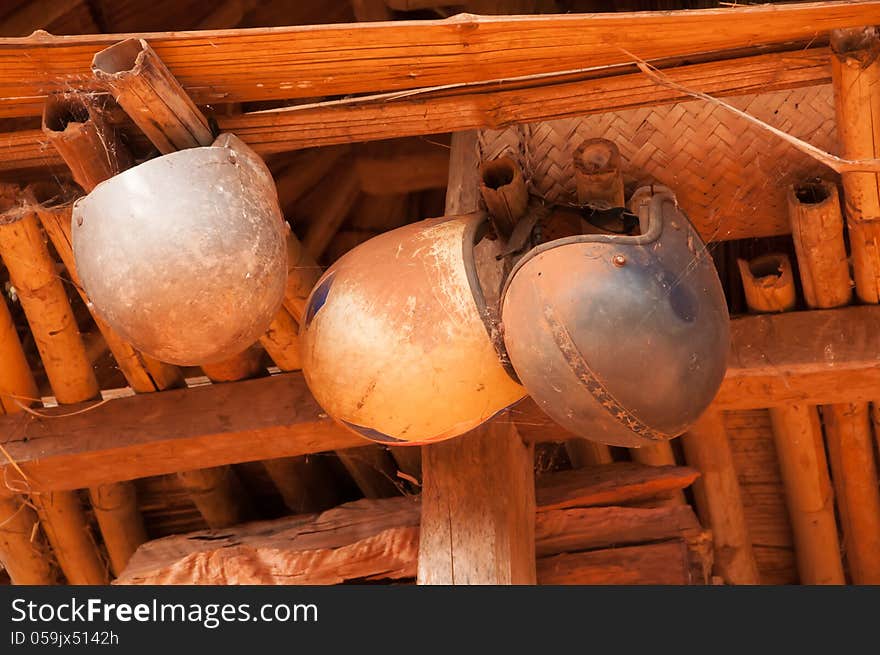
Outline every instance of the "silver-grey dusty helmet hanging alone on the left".
<path id="1" fill-rule="evenodd" d="M 161 361 L 232 357 L 281 306 L 278 195 L 262 159 L 231 135 L 102 182 L 74 205 L 72 230 L 95 312 Z"/>

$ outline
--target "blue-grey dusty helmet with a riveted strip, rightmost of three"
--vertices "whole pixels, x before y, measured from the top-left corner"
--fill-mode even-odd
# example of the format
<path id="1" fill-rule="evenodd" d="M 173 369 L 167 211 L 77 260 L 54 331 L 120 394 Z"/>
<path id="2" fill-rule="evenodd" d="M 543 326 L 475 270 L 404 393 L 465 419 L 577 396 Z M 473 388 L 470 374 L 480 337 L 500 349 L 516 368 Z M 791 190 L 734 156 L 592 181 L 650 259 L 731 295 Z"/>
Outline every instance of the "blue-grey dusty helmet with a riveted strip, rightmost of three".
<path id="1" fill-rule="evenodd" d="M 504 343 L 539 407 L 578 436 L 638 447 L 684 432 L 715 396 L 729 319 L 703 242 L 669 193 L 641 234 L 537 246 L 511 271 Z"/>

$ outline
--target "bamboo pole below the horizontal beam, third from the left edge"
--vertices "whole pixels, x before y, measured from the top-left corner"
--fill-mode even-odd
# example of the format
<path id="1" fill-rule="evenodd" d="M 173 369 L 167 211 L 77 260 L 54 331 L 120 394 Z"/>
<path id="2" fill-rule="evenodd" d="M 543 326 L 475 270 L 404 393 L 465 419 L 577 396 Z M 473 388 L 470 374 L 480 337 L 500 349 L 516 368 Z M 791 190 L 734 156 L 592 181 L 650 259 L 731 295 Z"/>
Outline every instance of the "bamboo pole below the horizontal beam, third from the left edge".
<path id="1" fill-rule="evenodd" d="M 118 576 L 138 546 L 147 540 L 147 530 L 137 505 L 137 489 L 130 482 L 103 484 L 91 488 L 89 497 L 107 544 L 110 568 L 113 575 Z"/>

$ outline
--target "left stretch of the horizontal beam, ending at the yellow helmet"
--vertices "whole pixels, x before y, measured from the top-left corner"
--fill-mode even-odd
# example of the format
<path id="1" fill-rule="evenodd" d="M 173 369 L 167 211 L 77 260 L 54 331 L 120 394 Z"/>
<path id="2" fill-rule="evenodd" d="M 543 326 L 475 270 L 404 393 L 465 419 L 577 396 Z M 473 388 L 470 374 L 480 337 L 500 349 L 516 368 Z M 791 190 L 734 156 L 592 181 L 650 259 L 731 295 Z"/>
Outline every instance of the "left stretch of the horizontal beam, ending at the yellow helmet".
<path id="1" fill-rule="evenodd" d="M 79 409 L 86 407 L 91 410 L 63 418 L 0 418 L 0 443 L 34 488 L 78 489 L 174 473 L 186 466 L 368 443 L 326 418 L 299 373 L 131 396 L 100 406 L 85 403 Z M 41 411 L 70 414 L 71 408 Z M 3 465 L 14 479 L 12 467 L 5 461 Z"/>

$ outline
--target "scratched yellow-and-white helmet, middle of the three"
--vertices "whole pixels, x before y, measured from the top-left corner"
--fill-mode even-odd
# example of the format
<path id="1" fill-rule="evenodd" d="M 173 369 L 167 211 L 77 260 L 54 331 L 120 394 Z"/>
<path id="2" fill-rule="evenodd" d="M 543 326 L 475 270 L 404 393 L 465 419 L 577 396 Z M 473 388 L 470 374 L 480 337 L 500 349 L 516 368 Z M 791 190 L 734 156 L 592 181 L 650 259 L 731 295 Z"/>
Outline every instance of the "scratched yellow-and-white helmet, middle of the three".
<path id="1" fill-rule="evenodd" d="M 475 298 L 484 225 L 479 215 L 406 225 L 327 270 L 301 344 L 306 382 L 330 416 L 374 441 L 424 443 L 463 434 L 523 397 Z M 479 248 L 494 248 L 500 286 L 496 243 Z"/>

